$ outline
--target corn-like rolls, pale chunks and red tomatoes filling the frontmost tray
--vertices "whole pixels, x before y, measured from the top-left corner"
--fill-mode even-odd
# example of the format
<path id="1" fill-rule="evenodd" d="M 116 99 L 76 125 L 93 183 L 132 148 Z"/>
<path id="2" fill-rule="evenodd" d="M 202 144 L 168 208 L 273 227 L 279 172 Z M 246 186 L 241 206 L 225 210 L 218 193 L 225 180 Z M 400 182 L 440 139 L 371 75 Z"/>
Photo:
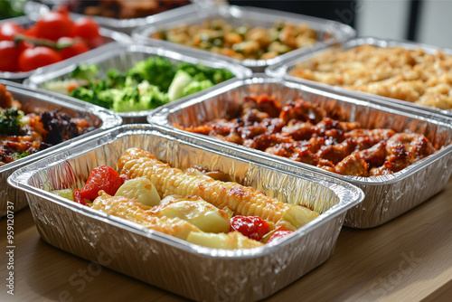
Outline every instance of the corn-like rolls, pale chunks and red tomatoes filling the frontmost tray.
<path id="1" fill-rule="evenodd" d="M 185 171 L 130 148 L 119 173 L 94 168 L 81 189 L 53 191 L 92 209 L 214 249 L 250 249 L 276 241 L 319 213 L 281 203 L 219 171 Z"/>

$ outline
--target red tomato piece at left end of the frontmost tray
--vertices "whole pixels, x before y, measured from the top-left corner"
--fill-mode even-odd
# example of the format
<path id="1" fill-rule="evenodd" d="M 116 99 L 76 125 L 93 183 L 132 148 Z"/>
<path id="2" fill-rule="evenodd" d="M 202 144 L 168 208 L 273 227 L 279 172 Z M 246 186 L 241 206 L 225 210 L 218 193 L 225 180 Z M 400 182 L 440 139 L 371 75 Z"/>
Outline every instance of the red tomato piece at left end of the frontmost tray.
<path id="1" fill-rule="evenodd" d="M 100 165 L 92 169 L 86 184 L 81 188 L 81 197 L 95 200 L 99 191 L 104 190 L 109 195 L 114 195 L 123 184 L 121 177 L 108 165 Z"/>

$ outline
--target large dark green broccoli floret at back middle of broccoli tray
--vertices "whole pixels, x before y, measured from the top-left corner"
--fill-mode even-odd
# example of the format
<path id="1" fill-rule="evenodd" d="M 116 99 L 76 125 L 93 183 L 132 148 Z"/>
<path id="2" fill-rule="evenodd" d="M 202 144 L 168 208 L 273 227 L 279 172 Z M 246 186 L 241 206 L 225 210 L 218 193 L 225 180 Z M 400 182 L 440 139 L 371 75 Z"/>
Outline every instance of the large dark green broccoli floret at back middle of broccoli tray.
<path id="1" fill-rule="evenodd" d="M 150 57 L 144 61 L 139 61 L 135 66 L 127 71 L 127 85 L 133 86 L 143 80 L 147 80 L 161 91 L 167 91 L 174 78 L 174 64 L 159 56 Z"/>

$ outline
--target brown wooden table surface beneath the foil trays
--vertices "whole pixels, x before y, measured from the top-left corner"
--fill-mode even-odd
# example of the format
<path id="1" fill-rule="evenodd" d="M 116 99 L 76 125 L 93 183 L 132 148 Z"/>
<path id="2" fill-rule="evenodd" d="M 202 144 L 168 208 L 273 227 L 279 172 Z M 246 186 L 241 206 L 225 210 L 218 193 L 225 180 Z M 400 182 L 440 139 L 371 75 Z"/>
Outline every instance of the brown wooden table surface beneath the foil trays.
<path id="1" fill-rule="evenodd" d="M 6 246 L 6 220 L 0 221 Z M 0 264 L 0 301 L 184 301 L 40 239 L 30 210 L 14 214 L 14 296 Z M 84 276 L 80 278 L 80 276 Z M 74 280 L 84 282 L 74 284 Z M 72 282 L 71 282 L 72 280 Z M 344 228 L 334 255 L 268 301 L 452 301 L 452 180 L 428 202 L 381 227 Z"/>

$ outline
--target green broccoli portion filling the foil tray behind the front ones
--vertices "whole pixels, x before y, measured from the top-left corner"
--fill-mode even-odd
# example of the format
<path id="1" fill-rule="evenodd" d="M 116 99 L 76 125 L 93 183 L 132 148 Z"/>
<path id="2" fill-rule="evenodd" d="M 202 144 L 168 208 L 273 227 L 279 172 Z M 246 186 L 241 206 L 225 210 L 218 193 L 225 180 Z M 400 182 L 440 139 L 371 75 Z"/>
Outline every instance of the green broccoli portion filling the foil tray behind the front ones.
<path id="1" fill-rule="evenodd" d="M 51 80 L 43 88 L 115 112 L 129 112 L 155 109 L 234 77 L 225 69 L 173 63 L 160 56 L 139 61 L 127 72 L 109 70 L 106 77 L 98 74 L 99 65 L 79 65 L 71 72 L 71 79 Z"/>

